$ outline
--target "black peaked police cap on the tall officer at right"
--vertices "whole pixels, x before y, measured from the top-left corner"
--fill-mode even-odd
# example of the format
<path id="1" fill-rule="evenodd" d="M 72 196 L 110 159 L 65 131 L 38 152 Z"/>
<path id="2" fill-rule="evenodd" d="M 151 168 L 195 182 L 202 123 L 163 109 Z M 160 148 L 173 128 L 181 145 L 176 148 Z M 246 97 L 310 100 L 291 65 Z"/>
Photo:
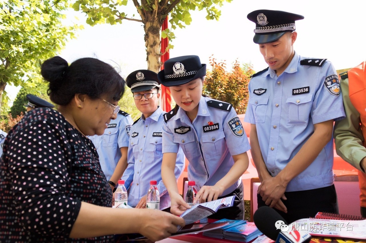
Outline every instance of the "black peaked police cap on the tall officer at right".
<path id="1" fill-rule="evenodd" d="M 264 44 L 273 42 L 285 34 L 295 31 L 295 20 L 304 16 L 284 11 L 255 10 L 248 14 L 247 18 L 255 23 L 254 43 Z"/>

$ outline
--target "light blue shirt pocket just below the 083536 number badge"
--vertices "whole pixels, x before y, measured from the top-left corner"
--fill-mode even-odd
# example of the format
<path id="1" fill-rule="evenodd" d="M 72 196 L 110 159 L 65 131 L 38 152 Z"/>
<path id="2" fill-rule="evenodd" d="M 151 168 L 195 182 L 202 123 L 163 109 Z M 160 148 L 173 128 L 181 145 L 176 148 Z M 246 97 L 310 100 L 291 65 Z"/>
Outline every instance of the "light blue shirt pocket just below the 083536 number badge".
<path id="1" fill-rule="evenodd" d="M 313 93 L 308 95 L 288 96 L 288 120 L 287 126 L 307 125 L 309 122 L 311 106 L 313 105 Z"/>

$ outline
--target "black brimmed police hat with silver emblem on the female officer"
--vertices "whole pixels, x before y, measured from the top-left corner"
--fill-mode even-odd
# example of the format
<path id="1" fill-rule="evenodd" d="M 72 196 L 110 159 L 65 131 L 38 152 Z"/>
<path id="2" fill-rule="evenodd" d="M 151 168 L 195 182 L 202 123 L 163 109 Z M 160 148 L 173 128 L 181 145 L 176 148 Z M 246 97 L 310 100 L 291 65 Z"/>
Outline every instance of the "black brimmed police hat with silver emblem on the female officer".
<path id="1" fill-rule="evenodd" d="M 201 64 L 196 55 L 170 58 L 164 62 L 164 70 L 158 73 L 158 79 L 164 86 L 182 85 L 204 76 L 206 64 Z"/>

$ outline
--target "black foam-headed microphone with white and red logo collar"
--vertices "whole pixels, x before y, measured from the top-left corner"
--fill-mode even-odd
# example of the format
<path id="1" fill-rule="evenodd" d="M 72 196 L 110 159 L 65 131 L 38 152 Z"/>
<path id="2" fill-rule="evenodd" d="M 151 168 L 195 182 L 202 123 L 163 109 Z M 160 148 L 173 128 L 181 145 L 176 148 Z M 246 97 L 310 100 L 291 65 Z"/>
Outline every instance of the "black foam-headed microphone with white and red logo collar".
<path id="1" fill-rule="evenodd" d="M 276 243 L 308 243 L 311 235 L 306 230 L 295 229 L 294 225 L 287 225 L 284 218 L 270 207 L 260 207 L 255 211 L 254 224 L 265 236 Z"/>

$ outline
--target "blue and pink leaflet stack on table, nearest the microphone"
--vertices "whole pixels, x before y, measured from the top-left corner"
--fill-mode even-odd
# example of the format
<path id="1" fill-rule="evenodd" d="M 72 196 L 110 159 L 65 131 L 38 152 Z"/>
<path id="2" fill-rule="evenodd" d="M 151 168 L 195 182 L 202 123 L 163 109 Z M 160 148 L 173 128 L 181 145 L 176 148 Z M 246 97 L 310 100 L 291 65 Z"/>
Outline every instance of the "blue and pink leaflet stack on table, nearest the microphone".
<path id="1" fill-rule="evenodd" d="M 224 239 L 236 240 L 240 242 L 250 242 L 262 233 L 253 222 L 236 225 L 223 231 Z"/>

